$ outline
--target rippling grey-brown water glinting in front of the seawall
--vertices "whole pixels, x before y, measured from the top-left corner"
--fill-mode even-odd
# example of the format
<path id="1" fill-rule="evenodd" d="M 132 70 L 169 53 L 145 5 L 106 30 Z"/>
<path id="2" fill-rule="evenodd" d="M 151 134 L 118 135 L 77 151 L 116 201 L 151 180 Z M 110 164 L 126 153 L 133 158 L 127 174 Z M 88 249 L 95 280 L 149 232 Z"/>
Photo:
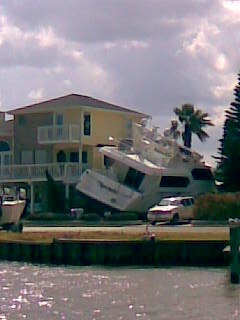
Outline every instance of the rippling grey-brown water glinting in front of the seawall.
<path id="1" fill-rule="evenodd" d="M 240 319 L 226 269 L 0 263 L 0 319 Z"/>

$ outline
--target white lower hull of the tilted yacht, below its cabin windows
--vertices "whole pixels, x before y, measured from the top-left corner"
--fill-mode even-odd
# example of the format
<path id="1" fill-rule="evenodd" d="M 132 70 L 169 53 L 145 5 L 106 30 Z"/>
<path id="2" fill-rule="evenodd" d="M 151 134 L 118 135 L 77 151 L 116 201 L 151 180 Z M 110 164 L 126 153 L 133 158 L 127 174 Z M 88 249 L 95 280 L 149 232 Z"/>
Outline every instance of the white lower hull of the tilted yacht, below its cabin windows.
<path id="1" fill-rule="evenodd" d="M 161 176 L 151 181 L 146 177 L 145 192 L 134 191 L 104 174 L 93 170 L 83 173 L 76 189 L 82 194 L 118 211 L 146 212 L 162 198 L 179 195 L 195 196 L 215 189 L 214 182 L 191 181 L 186 188 L 159 187 Z"/>

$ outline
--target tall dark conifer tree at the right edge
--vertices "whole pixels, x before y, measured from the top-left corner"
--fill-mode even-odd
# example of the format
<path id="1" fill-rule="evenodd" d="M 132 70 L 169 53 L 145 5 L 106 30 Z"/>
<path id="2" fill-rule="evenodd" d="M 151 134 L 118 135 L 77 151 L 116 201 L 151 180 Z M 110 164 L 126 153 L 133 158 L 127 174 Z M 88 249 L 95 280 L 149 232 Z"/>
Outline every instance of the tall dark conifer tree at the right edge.
<path id="1" fill-rule="evenodd" d="M 220 139 L 217 180 L 223 182 L 228 191 L 240 190 L 240 74 L 234 88 L 235 101 L 225 111 L 223 137 Z"/>

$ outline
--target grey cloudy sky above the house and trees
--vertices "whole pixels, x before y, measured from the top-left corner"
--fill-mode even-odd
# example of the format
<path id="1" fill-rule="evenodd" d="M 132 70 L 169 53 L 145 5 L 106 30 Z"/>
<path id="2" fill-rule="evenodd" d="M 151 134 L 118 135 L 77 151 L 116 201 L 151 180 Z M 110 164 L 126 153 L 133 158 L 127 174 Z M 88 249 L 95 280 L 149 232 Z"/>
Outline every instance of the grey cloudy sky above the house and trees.
<path id="1" fill-rule="evenodd" d="M 214 165 L 240 71 L 239 0 L 1 0 L 0 110 L 65 94 L 152 116 L 209 113 L 193 149 Z"/>

